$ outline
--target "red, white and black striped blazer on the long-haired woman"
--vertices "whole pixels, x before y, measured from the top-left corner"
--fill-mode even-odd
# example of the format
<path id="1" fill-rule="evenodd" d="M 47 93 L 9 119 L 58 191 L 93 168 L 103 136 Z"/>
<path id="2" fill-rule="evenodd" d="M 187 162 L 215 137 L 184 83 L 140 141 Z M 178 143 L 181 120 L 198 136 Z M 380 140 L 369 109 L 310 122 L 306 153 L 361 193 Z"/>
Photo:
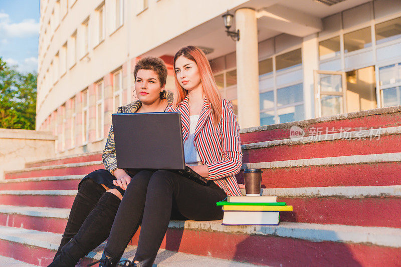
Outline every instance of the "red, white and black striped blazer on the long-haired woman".
<path id="1" fill-rule="evenodd" d="M 227 195 L 240 196 L 237 174 L 241 169 L 242 151 L 240 126 L 233 111 L 231 101 L 222 99 L 222 118 L 217 127 L 213 125 L 212 110 L 209 101 L 204 98 L 204 105 L 196 124 L 193 143 L 199 153 L 202 164 L 209 169 L 209 180 L 214 180 Z M 166 111 L 179 111 L 182 121 L 183 141 L 189 135 L 188 96 L 176 108 L 167 107 Z"/>

